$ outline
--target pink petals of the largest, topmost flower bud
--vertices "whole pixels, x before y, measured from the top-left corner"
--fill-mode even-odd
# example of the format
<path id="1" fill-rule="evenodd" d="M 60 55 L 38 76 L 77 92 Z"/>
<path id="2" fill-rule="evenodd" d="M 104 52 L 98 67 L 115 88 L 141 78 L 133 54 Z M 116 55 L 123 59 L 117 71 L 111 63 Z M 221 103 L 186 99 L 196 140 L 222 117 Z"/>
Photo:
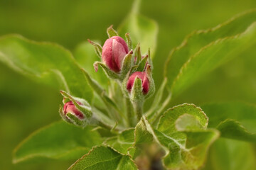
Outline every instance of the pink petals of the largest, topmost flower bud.
<path id="1" fill-rule="evenodd" d="M 102 61 L 114 72 L 120 72 L 122 61 L 129 52 L 124 39 L 114 36 L 107 39 L 102 47 Z"/>

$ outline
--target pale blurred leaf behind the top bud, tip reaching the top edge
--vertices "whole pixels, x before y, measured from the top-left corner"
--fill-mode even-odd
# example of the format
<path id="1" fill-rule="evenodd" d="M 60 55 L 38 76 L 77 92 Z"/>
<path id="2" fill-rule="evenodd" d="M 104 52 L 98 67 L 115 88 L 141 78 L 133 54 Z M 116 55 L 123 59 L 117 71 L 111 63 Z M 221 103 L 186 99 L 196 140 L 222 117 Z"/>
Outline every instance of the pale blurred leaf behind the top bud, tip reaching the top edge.
<path id="1" fill-rule="evenodd" d="M 140 3 L 141 0 L 134 1 L 132 11 L 124 23 L 119 26 L 118 33 L 119 35 L 129 33 L 134 47 L 140 43 L 142 54 L 145 54 L 150 48 L 152 51 L 151 57 L 153 58 L 154 52 L 156 52 L 158 26 L 155 21 L 139 14 Z"/>

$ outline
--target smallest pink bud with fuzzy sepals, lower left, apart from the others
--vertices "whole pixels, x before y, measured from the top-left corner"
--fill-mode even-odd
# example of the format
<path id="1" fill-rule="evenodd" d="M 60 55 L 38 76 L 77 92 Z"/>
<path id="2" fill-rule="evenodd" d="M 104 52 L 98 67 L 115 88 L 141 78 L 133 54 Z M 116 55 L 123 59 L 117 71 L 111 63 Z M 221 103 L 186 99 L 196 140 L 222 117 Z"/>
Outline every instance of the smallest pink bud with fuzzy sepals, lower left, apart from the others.
<path id="1" fill-rule="evenodd" d="M 90 123 L 92 118 L 92 109 L 82 98 L 76 98 L 66 93 L 65 91 L 60 91 L 63 95 L 63 105 L 60 106 L 60 116 L 68 123 L 78 125 L 82 128 Z"/>

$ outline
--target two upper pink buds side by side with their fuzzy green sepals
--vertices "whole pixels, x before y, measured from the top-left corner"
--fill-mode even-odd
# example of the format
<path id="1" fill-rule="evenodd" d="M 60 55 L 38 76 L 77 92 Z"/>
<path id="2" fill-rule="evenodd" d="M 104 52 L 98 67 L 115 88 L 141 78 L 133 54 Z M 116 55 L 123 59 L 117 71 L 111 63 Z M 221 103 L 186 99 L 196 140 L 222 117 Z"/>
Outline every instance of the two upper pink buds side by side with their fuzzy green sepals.
<path id="1" fill-rule="evenodd" d="M 112 26 L 107 29 L 109 39 L 101 47 L 96 42 L 89 42 L 95 46 L 97 55 L 102 62 L 95 62 L 95 71 L 102 67 L 110 79 L 117 79 L 122 83 L 124 94 L 131 101 L 144 100 L 154 94 L 154 81 L 151 76 L 153 68 L 150 51 L 142 55 L 140 46 L 132 50 L 132 41 L 127 33 L 127 42 L 119 37 Z"/>

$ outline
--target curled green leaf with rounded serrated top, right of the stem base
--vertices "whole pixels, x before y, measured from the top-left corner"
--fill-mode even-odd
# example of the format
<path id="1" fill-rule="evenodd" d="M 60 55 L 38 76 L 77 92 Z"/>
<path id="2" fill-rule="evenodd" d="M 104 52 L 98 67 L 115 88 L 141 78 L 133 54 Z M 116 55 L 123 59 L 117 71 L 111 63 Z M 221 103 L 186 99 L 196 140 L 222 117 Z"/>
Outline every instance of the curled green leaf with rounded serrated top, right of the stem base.
<path id="1" fill-rule="evenodd" d="M 188 125 L 186 118 L 191 120 Z M 219 135 L 217 130 L 206 130 L 207 125 L 206 114 L 193 104 L 185 103 L 167 110 L 154 130 L 156 141 L 166 152 L 164 166 L 168 169 L 203 166 L 208 148 Z"/>

